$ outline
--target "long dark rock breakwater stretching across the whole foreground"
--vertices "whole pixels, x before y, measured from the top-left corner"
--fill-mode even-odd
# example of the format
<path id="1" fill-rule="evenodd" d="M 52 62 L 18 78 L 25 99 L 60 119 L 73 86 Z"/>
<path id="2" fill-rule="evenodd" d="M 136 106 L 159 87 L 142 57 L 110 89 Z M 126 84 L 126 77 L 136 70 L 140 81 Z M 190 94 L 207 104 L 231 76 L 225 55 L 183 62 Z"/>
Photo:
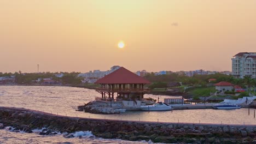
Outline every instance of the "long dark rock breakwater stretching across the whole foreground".
<path id="1" fill-rule="evenodd" d="M 133 122 L 57 116 L 50 113 L 0 107 L 4 127 L 31 133 L 32 129 L 73 133 L 90 130 L 97 137 L 130 141 L 152 140 L 164 143 L 253 143 L 256 125 L 220 125 L 192 123 Z M 3 127 L 2 127 L 3 128 Z M 72 137 L 72 135 L 69 135 Z"/>

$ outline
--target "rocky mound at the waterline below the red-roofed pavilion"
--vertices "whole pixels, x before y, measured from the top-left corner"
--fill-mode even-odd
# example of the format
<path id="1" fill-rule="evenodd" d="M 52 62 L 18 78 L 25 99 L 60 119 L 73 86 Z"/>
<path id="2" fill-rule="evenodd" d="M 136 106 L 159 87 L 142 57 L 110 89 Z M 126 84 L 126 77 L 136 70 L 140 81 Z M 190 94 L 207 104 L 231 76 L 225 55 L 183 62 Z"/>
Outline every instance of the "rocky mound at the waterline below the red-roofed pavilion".
<path id="1" fill-rule="evenodd" d="M 89 103 L 78 106 L 78 111 L 84 111 L 89 113 L 101 113 L 101 114 L 116 114 L 124 112 L 124 105 L 120 102 L 101 102 L 90 101 Z"/>

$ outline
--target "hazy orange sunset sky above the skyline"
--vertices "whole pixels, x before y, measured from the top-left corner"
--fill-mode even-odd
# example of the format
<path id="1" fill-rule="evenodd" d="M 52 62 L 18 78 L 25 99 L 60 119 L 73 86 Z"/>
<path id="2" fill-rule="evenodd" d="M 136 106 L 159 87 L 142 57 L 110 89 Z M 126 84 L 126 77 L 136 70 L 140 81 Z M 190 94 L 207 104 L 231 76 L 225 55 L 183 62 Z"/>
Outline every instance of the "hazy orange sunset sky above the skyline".
<path id="1" fill-rule="evenodd" d="M 224 71 L 238 52 L 256 52 L 255 0 L 0 0 L 2 72 Z"/>

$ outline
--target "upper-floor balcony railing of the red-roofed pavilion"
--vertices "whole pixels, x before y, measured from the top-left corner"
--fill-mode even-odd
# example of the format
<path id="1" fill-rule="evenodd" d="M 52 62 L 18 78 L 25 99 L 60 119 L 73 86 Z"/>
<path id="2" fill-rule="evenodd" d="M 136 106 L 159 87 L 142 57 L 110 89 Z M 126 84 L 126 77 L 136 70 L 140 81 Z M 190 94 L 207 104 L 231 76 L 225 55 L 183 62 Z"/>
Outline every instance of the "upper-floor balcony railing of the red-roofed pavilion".
<path id="1" fill-rule="evenodd" d="M 100 92 L 150 92 L 149 88 L 96 88 L 96 91 Z"/>

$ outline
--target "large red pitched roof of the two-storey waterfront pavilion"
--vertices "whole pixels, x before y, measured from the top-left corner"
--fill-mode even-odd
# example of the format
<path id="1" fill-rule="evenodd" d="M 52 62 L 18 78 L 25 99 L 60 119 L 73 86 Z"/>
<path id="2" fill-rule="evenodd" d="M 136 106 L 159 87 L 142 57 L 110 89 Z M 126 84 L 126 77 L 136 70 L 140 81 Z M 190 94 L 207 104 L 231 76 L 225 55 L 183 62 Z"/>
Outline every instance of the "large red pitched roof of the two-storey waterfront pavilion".
<path id="1" fill-rule="evenodd" d="M 131 71 L 125 69 L 124 67 L 115 70 L 113 73 L 110 73 L 101 79 L 97 80 L 95 83 L 104 83 L 104 84 L 132 84 L 132 83 L 150 83 L 148 80 L 145 80 L 143 77 L 132 73 Z"/>

